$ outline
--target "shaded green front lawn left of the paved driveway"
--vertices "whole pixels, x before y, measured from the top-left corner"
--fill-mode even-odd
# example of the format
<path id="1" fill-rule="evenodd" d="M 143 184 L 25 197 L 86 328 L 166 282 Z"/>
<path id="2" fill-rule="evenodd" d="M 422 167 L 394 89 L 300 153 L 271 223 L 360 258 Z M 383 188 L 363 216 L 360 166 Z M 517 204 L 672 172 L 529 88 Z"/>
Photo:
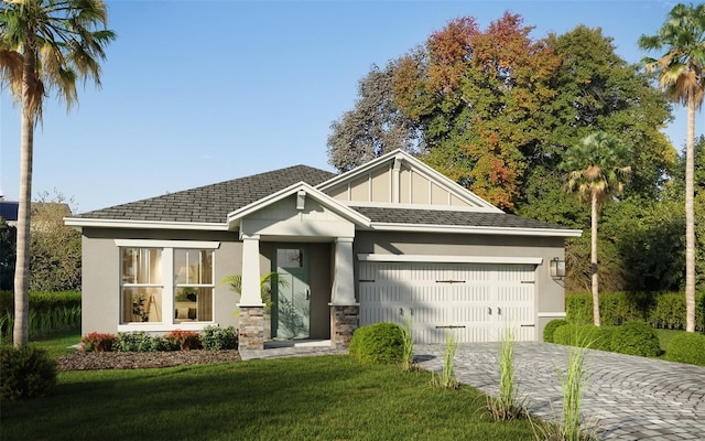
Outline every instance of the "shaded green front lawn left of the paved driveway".
<path id="1" fill-rule="evenodd" d="M 530 440 L 471 387 L 347 355 L 61 373 L 51 396 L 2 408 L 2 440 Z"/>

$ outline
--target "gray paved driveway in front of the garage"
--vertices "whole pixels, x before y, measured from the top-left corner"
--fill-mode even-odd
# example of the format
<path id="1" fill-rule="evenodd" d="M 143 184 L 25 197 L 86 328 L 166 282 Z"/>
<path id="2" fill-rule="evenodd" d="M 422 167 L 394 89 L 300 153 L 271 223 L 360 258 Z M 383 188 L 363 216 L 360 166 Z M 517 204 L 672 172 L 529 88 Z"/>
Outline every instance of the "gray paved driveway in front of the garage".
<path id="1" fill-rule="evenodd" d="M 556 369 L 567 365 L 567 347 L 517 343 L 519 395 L 532 413 L 560 418 L 561 385 Z M 419 365 L 441 372 L 443 345 L 415 345 Z M 455 358 L 458 381 L 496 395 L 499 343 L 462 344 Z M 597 421 L 609 440 L 705 439 L 705 367 L 603 351 L 588 351 L 589 379 L 583 415 Z"/>

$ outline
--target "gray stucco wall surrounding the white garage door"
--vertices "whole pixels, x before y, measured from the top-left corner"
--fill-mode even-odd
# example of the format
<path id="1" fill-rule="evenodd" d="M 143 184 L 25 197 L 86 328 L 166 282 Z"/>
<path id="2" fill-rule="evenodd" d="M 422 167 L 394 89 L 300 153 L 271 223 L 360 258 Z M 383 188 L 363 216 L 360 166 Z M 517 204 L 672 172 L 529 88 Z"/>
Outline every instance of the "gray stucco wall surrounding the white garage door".
<path id="1" fill-rule="evenodd" d="M 358 254 L 538 257 L 542 263 L 535 270 L 536 340 L 541 340 L 543 327 L 553 320 L 550 315 L 565 311 L 563 282 L 551 278 L 549 269 L 551 259 L 564 259 L 564 239 L 560 237 L 358 232 L 354 251 L 356 257 Z"/>

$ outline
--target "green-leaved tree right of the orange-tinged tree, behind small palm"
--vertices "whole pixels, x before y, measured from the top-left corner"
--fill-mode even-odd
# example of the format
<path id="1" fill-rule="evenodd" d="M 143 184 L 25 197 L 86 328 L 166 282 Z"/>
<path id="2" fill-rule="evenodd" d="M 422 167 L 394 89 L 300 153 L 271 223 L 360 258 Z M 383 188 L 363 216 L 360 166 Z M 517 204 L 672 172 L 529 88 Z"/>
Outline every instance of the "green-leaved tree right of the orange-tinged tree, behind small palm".
<path id="1" fill-rule="evenodd" d="M 542 163 L 557 164 L 565 149 L 595 130 L 618 136 L 632 149 L 632 173 L 627 191 L 657 197 L 676 159 L 661 129 L 671 120 L 668 100 L 640 66 L 615 52 L 612 39 L 601 30 L 578 25 L 549 37 L 562 58 L 553 87 L 560 90 L 546 117 L 553 130 L 542 146 Z M 551 161 L 553 160 L 553 161 Z M 533 164 L 532 164 L 533 165 Z"/>

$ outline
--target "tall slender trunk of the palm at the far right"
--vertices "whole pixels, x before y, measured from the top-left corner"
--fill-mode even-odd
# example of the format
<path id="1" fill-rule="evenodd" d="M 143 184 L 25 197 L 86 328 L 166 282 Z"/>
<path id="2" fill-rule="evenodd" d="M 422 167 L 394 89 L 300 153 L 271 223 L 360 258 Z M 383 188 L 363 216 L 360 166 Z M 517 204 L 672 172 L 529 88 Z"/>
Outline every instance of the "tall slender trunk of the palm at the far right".
<path id="1" fill-rule="evenodd" d="M 695 169 L 695 100 L 687 104 L 685 144 L 685 331 L 695 332 L 695 208 L 693 203 Z"/>

